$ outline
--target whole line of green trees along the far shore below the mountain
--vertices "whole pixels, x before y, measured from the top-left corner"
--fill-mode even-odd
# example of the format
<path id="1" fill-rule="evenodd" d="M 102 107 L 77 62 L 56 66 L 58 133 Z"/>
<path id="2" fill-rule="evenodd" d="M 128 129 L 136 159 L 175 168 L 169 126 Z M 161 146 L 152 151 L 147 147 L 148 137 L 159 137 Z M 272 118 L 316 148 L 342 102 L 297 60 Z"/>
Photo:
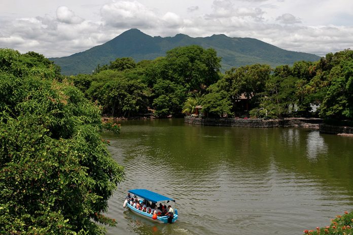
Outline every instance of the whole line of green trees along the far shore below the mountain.
<path id="1" fill-rule="evenodd" d="M 149 110 L 158 117 L 180 116 L 183 110 L 191 114 L 201 105 L 208 116 L 353 119 L 351 50 L 329 53 L 316 62 L 298 61 L 274 69 L 246 65 L 224 74 L 220 61 L 213 49 L 186 46 L 155 60 L 135 63 L 118 58 L 98 65 L 93 74 L 68 80 L 111 116 L 131 117 Z"/>

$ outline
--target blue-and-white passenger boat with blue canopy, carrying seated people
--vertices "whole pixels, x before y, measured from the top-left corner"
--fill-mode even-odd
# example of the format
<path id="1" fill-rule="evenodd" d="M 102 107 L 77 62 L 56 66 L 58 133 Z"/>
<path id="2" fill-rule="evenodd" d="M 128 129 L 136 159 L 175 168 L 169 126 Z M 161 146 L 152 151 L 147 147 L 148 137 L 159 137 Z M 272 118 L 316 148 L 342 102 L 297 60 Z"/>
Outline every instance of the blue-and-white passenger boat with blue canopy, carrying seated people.
<path id="1" fill-rule="evenodd" d="M 128 192 L 137 196 L 140 203 L 142 203 L 144 199 L 146 199 L 147 201 L 150 201 L 151 203 L 156 203 L 156 204 L 164 202 L 164 205 L 166 205 L 165 202 L 167 202 L 167 203 L 169 203 L 170 201 L 174 202 L 174 215 L 173 215 L 171 222 L 174 223 L 175 221 L 177 221 L 178 210 L 175 208 L 175 200 L 174 199 L 165 197 L 164 195 L 161 195 L 157 192 L 153 192 L 153 191 L 150 191 L 147 189 L 142 189 L 142 188 L 131 189 L 131 190 L 128 190 Z M 125 200 L 123 207 L 128 208 L 132 212 L 134 212 L 135 214 L 143 216 L 144 218 L 147 218 L 147 219 L 152 220 L 154 222 L 168 223 L 168 216 L 166 216 L 166 215 L 165 216 L 157 216 L 154 213 L 150 214 L 150 213 L 144 212 L 142 210 L 141 211 L 137 210 L 136 208 L 131 206 L 130 203 L 127 202 L 127 200 Z"/>

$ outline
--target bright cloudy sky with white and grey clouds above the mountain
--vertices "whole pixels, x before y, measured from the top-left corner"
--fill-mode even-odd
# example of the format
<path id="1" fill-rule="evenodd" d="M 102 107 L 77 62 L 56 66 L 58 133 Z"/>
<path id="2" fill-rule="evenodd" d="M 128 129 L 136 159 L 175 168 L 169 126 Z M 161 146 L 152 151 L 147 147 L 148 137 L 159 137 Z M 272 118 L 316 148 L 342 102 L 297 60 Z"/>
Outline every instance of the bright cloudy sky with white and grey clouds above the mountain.
<path id="1" fill-rule="evenodd" d="M 61 57 L 130 28 L 224 33 L 323 56 L 353 48 L 352 0 L 1 0 L 0 48 Z"/>

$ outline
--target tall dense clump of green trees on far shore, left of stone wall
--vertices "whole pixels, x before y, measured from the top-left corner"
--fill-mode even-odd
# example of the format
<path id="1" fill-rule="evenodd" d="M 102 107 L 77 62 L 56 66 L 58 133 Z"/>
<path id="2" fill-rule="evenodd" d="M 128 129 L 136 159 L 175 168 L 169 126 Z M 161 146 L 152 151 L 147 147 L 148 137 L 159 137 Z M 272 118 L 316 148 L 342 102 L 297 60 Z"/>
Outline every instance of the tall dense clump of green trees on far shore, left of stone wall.
<path id="1" fill-rule="evenodd" d="M 178 116 L 188 96 L 206 93 L 219 80 L 220 60 L 213 49 L 181 47 L 137 64 L 118 58 L 98 65 L 92 75 L 69 80 L 92 101 L 98 100 L 106 115 L 131 117 L 152 108 L 158 117 Z"/>

